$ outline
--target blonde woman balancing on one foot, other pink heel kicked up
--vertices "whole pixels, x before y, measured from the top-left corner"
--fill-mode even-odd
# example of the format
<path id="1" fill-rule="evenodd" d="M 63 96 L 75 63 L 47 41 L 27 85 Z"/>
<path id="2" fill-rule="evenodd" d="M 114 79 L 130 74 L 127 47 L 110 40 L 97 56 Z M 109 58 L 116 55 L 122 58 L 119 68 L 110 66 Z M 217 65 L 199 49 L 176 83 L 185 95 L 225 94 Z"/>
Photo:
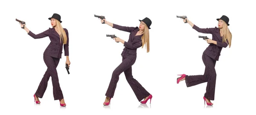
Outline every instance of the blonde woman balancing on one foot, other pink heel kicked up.
<path id="1" fill-rule="evenodd" d="M 206 93 L 204 94 L 204 104 L 205 101 L 207 105 L 212 106 L 213 103 L 211 100 L 214 100 L 215 95 L 215 83 L 216 83 L 216 71 L 215 63 L 218 61 L 219 56 L 221 55 L 222 47 L 226 48 L 229 45 L 231 46 L 232 34 L 228 29 L 229 18 L 223 15 L 221 18 L 218 18 L 218 28 L 207 28 L 201 29 L 198 26 L 195 26 L 188 19 L 183 20 L 188 22 L 193 29 L 198 32 L 212 34 L 212 40 L 207 39 L 209 46 L 204 50 L 203 53 L 203 62 L 205 65 L 204 75 L 181 75 L 180 78 L 177 78 L 177 83 L 182 80 L 186 81 L 186 86 L 195 86 L 200 83 L 207 82 Z"/>

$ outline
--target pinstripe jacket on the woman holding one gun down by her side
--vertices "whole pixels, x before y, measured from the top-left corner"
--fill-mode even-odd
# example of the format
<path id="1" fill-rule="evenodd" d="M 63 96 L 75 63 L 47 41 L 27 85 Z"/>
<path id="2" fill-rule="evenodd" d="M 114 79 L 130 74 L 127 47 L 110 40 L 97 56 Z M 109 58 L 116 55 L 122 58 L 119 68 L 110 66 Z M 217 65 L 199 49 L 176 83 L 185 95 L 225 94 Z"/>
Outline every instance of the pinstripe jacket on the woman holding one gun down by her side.
<path id="1" fill-rule="evenodd" d="M 69 37 L 68 37 L 68 31 L 67 29 L 64 29 L 64 31 L 67 34 L 67 44 L 64 44 L 64 55 L 69 56 Z M 28 35 L 33 37 L 34 39 L 39 39 L 43 37 L 49 37 L 51 42 L 47 46 L 47 48 L 44 51 L 44 55 L 49 55 L 54 58 L 61 58 L 62 54 L 62 48 L 63 48 L 63 41 L 60 40 L 60 35 L 55 31 L 55 28 L 49 28 L 46 31 L 35 35 L 33 32 L 29 31 Z"/>

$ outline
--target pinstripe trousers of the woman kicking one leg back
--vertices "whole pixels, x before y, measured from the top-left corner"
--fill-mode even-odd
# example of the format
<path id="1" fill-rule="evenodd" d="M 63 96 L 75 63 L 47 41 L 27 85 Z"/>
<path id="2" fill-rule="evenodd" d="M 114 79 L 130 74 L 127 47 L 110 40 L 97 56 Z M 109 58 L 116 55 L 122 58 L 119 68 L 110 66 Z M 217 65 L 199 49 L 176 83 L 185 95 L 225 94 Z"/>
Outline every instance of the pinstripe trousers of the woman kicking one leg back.
<path id="1" fill-rule="evenodd" d="M 215 64 L 216 60 L 213 60 L 208 55 L 202 55 L 202 59 L 205 65 L 204 75 L 187 75 L 185 77 L 186 86 L 195 86 L 200 83 L 207 82 L 206 92 L 204 97 L 209 100 L 214 100 L 215 95 L 215 84 L 216 84 L 216 71 Z"/>

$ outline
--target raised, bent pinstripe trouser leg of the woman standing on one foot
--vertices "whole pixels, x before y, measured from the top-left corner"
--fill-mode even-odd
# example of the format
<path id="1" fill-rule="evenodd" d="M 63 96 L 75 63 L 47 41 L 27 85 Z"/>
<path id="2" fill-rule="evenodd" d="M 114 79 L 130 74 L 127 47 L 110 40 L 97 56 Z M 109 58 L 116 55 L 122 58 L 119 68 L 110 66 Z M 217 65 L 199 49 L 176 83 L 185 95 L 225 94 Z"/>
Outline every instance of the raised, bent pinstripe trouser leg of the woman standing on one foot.
<path id="1" fill-rule="evenodd" d="M 204 75 L 187 75 L 185 77 L 187 87 L 195 86 L 195 85 L 207 82 L 209 78 L 209 69 L 208 69 L 209 67 L 208 67 L 208 62 L 206 60 L 207 57 L 208 56 L 205 54 L 202 55 L 202 59 L 205 65 Z"/>

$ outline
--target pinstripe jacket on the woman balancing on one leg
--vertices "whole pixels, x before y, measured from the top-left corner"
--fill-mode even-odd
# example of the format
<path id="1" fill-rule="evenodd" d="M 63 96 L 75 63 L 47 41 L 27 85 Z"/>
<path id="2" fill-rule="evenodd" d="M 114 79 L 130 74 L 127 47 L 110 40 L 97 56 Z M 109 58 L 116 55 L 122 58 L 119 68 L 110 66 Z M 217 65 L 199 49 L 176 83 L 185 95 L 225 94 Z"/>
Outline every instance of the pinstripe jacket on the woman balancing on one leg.
<path id="1" fill-rule="evenodd" d="M 214 60 L 218 60 L 219 56 L 221 55 L 221 49 L 223 47 L 226 48 L 228 46 L 228 40 L 227 40 L 227 43 L 225 43 L 225 42 L 222 43 L 220 29 L 217 27 L 201 29 L 195 25 L 192 28 L 200 33 L 212 34 L 212 40 L 217 41 L 217 45 L 210 43 L 209 46 L 204 50 L 204 54 L 208 55 L 209 57 L 211 57 Z"/>

